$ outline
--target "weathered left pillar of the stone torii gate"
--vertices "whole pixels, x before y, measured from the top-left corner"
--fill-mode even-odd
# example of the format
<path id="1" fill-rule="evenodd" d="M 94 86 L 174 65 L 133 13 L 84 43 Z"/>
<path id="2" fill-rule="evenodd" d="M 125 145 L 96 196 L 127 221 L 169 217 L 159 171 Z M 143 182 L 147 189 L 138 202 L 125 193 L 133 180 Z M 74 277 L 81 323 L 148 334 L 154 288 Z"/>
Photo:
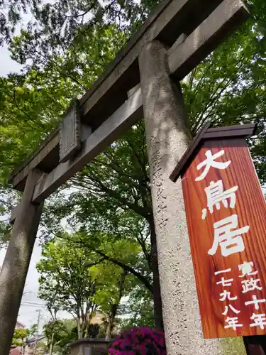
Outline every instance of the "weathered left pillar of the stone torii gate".
<path id="1" fill-rule="evenodd" d="M 0 354 L 9 355 L 43 203 L 31 202 L 39 172 L 28 174 L 0 273 Z"/>

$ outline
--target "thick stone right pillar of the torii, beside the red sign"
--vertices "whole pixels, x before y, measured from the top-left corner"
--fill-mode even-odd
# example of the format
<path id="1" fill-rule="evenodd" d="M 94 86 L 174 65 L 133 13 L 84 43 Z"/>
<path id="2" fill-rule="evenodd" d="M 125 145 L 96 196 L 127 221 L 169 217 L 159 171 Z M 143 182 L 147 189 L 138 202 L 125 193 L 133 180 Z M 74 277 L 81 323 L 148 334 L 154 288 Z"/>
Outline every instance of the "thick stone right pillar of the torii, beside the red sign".
<path id="1" fill-rule="evenodd" d="M 192 138 L 182 92 L 159 41 L 143 49 L 139 65 L 167 355 L 227 354 L 219 339 L 201 334 L 182 185 L 169 178 Z M 238 354 L 246 354 L 244 345 Z"/>

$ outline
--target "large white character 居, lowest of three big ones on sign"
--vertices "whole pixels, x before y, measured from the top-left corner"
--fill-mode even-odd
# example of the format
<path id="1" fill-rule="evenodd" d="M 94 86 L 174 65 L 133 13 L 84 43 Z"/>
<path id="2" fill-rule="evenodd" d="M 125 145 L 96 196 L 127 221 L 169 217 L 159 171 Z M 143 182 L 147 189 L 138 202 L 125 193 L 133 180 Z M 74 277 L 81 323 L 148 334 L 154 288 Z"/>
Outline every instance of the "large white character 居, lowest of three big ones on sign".
<path id="1" fill-rule="evenodd" d="M 221 255 L 228 256 L 245 250 L 245 245 L 241 234 L 249 231 L 249 226 L 235 229 L 238 226 L 238 215 L 232 214 L 214 223 L 214 244 L 208 251 L 209 255 L 214 255 L 221 247 Z M 235 229 L 235 230 L 232 230 Z"/>

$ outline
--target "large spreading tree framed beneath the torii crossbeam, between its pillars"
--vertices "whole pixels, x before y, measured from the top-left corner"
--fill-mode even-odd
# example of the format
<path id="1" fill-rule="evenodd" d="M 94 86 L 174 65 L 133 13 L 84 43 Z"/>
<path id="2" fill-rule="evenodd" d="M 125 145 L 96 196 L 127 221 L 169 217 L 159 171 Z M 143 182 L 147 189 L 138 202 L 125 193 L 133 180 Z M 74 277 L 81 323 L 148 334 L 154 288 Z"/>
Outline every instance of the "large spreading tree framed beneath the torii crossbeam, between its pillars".
<path id="1" fill-rule="evenodd" d="M 144 123 L 140 121 L 120 141 L 87 165 L 68 183 L 72 192 L 48 202 L 43 215 L 47 227 L 62 235 L 60 220 L 67 217 L 76 242 L 135 275 L 153 294 L 157 327 L 162 329 L 159 276 L 153 209 L 150 196 Z M 77 230 L 76 226 L 79 226 Z M 102 242 L 105 241 L 105 243 Z M 135 241 L 140 248 L 138 263 L 109 245 Z M 123 250 L 123 249 L 121 249 Z M 133 263 L 132 263 L 133 262 Z M 155 292 L 153 292 L 155 287 Z"/>

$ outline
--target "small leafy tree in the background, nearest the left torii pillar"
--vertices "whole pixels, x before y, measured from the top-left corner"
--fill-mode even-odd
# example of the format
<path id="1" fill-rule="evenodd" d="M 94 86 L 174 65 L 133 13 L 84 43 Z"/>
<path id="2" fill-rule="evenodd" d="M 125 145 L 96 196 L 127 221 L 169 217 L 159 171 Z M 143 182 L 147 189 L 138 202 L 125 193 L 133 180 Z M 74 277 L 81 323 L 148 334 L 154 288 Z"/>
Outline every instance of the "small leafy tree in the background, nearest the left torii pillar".
<path id="1" fill-rule="evenodd" d="M 82 249 L 71 248 L 64 241 L 47 244 L 42 256 L 37 266 L 39 297 L 46 302 L 53 300 L 62 310 L 70 312 L 77 322 L 79 339 L 85 337 L 97 307 L 94 300 L 96 280 L 90 268 L 100 262 L 99 258 L 89 256 Z"/>

